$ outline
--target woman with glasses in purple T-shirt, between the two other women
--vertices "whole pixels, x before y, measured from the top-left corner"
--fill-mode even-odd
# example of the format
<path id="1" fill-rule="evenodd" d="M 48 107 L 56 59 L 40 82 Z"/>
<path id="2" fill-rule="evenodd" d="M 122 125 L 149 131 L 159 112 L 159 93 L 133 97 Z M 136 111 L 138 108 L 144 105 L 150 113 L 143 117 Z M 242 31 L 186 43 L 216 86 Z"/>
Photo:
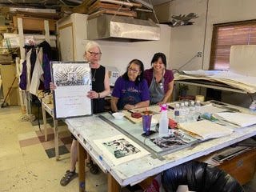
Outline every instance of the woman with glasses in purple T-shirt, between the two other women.
<path id="1" fill-rule="evenodd" d="M 113 111 L 149 106 L 150 93 L 143 78 L 143 71 L 144 66 L 140 60 L 134 59 L 129 63 L 126 73 L 114 83 L 111 98 Z"/>

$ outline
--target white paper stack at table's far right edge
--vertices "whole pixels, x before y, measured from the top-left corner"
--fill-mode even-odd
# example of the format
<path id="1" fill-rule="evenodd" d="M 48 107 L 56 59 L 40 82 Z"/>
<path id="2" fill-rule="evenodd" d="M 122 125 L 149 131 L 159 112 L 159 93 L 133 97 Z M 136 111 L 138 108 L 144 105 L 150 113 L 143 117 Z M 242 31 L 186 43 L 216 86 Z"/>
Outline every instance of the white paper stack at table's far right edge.
<path id="1" fill-rule="evenodd" d="M 224 119 L 226 122 L 230 122 L 241 127 L 252 126 L 256 124 L 256 115 L 253 114 L 221 112 L 214 114 L 214 117 L 220 118 L 220 120 Z"/>

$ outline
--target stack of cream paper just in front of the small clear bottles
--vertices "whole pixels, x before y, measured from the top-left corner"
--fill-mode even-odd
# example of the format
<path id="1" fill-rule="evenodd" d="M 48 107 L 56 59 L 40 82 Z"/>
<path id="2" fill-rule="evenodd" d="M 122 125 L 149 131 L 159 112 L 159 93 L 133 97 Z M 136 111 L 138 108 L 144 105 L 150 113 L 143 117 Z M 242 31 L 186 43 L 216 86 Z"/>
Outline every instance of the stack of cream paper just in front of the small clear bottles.
<path id="1" fill-rule="evenodd" d="M 218 125 L 208 120 L 183 122 L 179 124 L 179 128 L 197 134 L 204 140 L 208 138 L 220 138 L 232 134 L 233 132 L 233 130 L 228 127 Z"/>

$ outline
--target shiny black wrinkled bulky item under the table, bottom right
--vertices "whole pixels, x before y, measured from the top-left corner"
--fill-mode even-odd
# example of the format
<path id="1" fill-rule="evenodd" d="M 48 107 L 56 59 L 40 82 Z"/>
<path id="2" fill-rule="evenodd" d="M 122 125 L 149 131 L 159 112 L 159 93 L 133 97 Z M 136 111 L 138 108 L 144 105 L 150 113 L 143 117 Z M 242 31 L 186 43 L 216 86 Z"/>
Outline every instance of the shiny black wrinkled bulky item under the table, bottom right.
<path id="1" fill-rule="evenodd" d="M 166 192 L 175 192 L 179 185 L 197 192 L 244 191 L 230 174 L 205 162 L 186 162 L 163 172 L 162 186 Z"/>

